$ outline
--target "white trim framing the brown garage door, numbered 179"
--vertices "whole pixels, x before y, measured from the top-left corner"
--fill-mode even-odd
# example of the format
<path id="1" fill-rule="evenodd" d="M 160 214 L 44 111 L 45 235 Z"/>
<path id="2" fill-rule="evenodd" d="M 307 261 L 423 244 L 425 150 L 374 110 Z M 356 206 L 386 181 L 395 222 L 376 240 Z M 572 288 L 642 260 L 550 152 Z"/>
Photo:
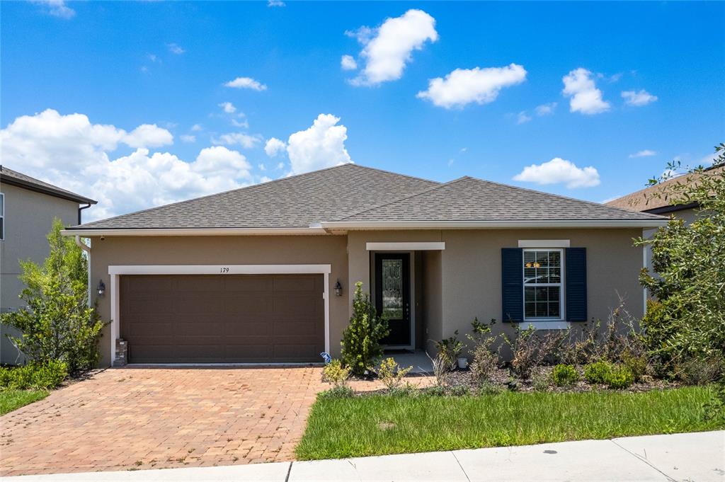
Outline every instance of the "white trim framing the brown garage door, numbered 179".
<path id="1" fill-rule="evenodd" d="M 111 277 L 111 363 L 116 359 L 116 339 L 120 333 L 120 275 L 299 275 L 325 276 L 325 351 L 330 352 L 330 273 L 331 265 L 112 265 Z"/>

